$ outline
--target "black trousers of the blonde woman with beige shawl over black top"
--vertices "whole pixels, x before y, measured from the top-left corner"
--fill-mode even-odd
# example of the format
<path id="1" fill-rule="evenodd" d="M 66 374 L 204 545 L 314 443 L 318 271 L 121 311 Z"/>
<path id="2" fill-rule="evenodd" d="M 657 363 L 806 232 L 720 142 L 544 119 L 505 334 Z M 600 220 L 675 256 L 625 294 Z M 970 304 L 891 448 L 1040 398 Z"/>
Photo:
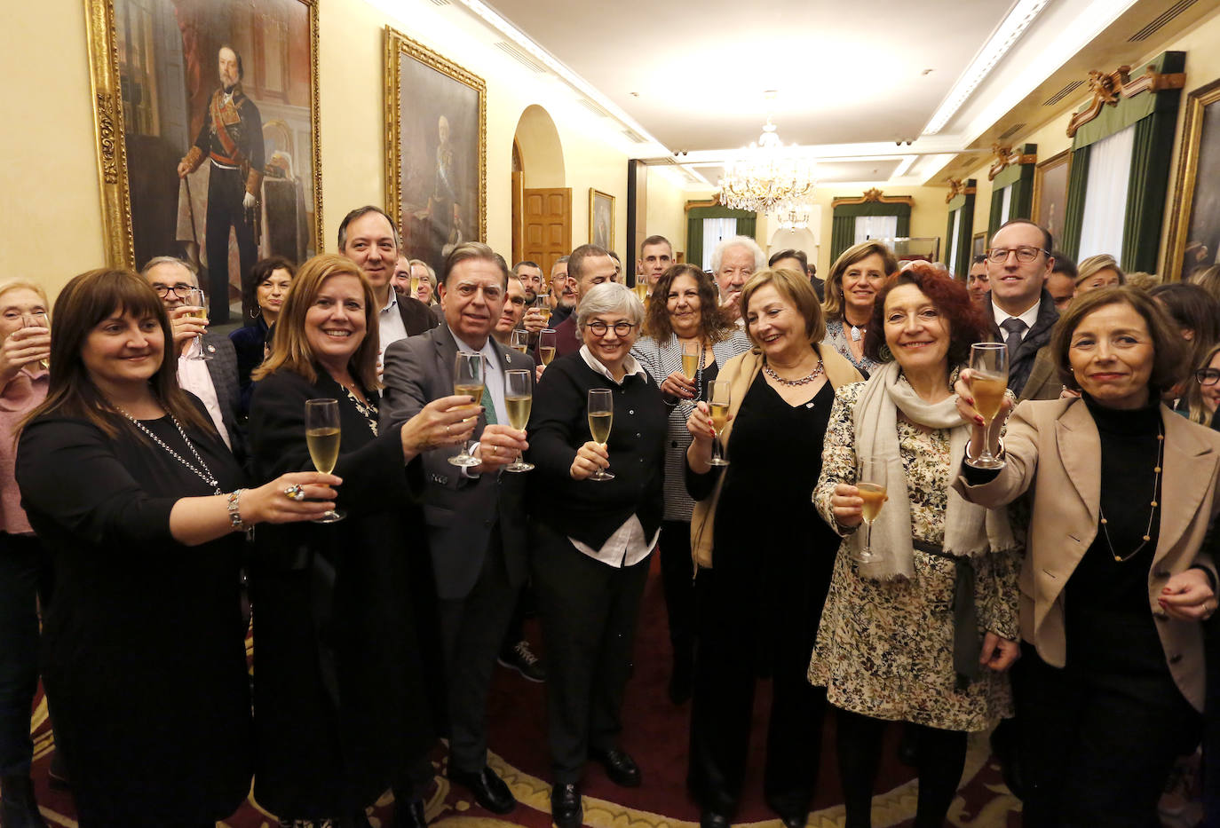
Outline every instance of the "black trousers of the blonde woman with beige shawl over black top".
<path id="1" fill-rule="evenodd" d="M 792 596 L 776 596 L 765 602 L 771 606 L 747 606 L 753 602 L 745 598 L 748 590 L 734 602 L 730 595 L 738 579 L 720 569 L 699 569 L 694 583 L 699 643 L 687 785 L 702 808 L 733 816 L 745 776 L 758 668 L 769 667 L 764 794 L 781 815 L 805 813 L 817 783 L 826 716 L 826 688 L 805 678 L 821 604 L 810 607 Z M 809 612 L 815 612 L 813 623 Z"/>

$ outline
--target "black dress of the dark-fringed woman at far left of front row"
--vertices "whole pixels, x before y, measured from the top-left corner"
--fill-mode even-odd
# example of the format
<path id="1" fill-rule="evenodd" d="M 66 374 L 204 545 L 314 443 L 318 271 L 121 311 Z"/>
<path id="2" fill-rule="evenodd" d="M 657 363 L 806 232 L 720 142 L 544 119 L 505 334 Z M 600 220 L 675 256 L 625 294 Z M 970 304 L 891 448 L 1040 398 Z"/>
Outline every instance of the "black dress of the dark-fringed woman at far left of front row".
<path id="1" fill-rule="evenodd" d="M 194 465 L 168 417 L 143 423 Z M 222 491 L 243 485 L 218 437 L 187 433 Z M 43 682 L 81 824 L 227 817 L 251 771 L 243 538 L 184 546 L 170 534 L 178 499 L 215 490 L 126 423 L 109 438 L 57 416 L 26 428 L 17 482 L 55 561 Z"/>

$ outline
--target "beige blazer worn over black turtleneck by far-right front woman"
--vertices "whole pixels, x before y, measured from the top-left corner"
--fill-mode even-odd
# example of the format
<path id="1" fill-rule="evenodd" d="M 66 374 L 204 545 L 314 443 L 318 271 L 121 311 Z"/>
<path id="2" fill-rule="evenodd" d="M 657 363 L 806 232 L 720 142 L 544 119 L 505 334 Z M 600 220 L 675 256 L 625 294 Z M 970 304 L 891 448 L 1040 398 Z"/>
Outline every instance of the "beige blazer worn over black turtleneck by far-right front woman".
<path id="1" fill-rule="evenodd" d="M 1148 572 L 1148 609 L 1174 680 L 1196 708 L 1203 710 L 1203 629 L 1198 622 L 1171 618 L 1157 601 L 1170 576 L 1193 565 L 1215 566 L 1202 551 L 1216 512 L 1220 433 L 1190 422 L 1165 406 L 1165 459 L 1161 477 L 1160 533 Z M 1021 568 L 1021 637 L 1057 667 L 1066 661 L 1064 588 L 1098 532 L 1102 499 L 1102 441 L 1082 400 L 1021 402 L 1008 421 L 1008 465 L 982 485 L 959 477 L 953 488 L 988 507 L 1011 502 L 1032 490 L 1028 541 Z"/>

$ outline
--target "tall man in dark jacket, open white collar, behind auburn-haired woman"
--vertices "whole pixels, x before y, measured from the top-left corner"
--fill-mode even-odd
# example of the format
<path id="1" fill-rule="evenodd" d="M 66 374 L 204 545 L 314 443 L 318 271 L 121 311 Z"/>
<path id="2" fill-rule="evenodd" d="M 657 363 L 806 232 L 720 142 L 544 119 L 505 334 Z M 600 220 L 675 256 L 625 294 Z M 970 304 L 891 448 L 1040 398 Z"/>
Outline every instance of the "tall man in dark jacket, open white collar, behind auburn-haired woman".
<path id="1" fill-rule="evenodd" d="M 339 252 L 359 265 L 373 287 L 383 355 L 392 343 L 440 324 L 427 305 L 414 296 L 399 296 L 390 284 L 401 248 L 398 228 L 379 207 L 357 207 L 339 223 Z"/>

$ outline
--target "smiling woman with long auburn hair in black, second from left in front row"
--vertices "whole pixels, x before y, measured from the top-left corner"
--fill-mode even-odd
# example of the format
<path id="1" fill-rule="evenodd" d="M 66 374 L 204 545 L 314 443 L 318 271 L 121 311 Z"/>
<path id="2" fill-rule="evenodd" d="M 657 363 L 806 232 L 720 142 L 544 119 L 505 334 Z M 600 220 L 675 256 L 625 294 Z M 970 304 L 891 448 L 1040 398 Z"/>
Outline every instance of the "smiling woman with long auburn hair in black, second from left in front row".
<path id="1" fill-rule="evenodd" d="M 257 473 L 311 468 L 305 401 L 339 402 L 337 523 L 259 535 L 255 610 L 255 798 L 284 821 L 364 828 L 396 787 L 404 824 L 422 824 L 440 671 L 422 521 L 421 450 L 473 429 L 443 398 L 378 433 L 377 305 L 361 271 L 316 256 L 296 276 L 250 413 Z M 450 409 L 453 409 L 450 411 Z M 290 822 L 289 822 L 290 824 Z"/>

